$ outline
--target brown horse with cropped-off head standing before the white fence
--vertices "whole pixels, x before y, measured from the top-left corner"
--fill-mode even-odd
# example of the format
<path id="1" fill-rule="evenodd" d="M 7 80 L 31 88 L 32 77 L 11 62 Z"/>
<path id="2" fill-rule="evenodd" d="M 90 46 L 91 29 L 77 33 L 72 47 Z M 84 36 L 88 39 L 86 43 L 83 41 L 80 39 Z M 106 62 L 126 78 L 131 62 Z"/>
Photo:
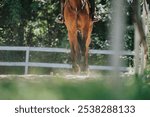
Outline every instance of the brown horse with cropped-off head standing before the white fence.
<path id="1" fill-rule="evenodd" d="M 88 48 L 93 28 L 89 8 L 88 0 L 66 0 L 64 5 L 74 72 L 88 70 Z"/>

